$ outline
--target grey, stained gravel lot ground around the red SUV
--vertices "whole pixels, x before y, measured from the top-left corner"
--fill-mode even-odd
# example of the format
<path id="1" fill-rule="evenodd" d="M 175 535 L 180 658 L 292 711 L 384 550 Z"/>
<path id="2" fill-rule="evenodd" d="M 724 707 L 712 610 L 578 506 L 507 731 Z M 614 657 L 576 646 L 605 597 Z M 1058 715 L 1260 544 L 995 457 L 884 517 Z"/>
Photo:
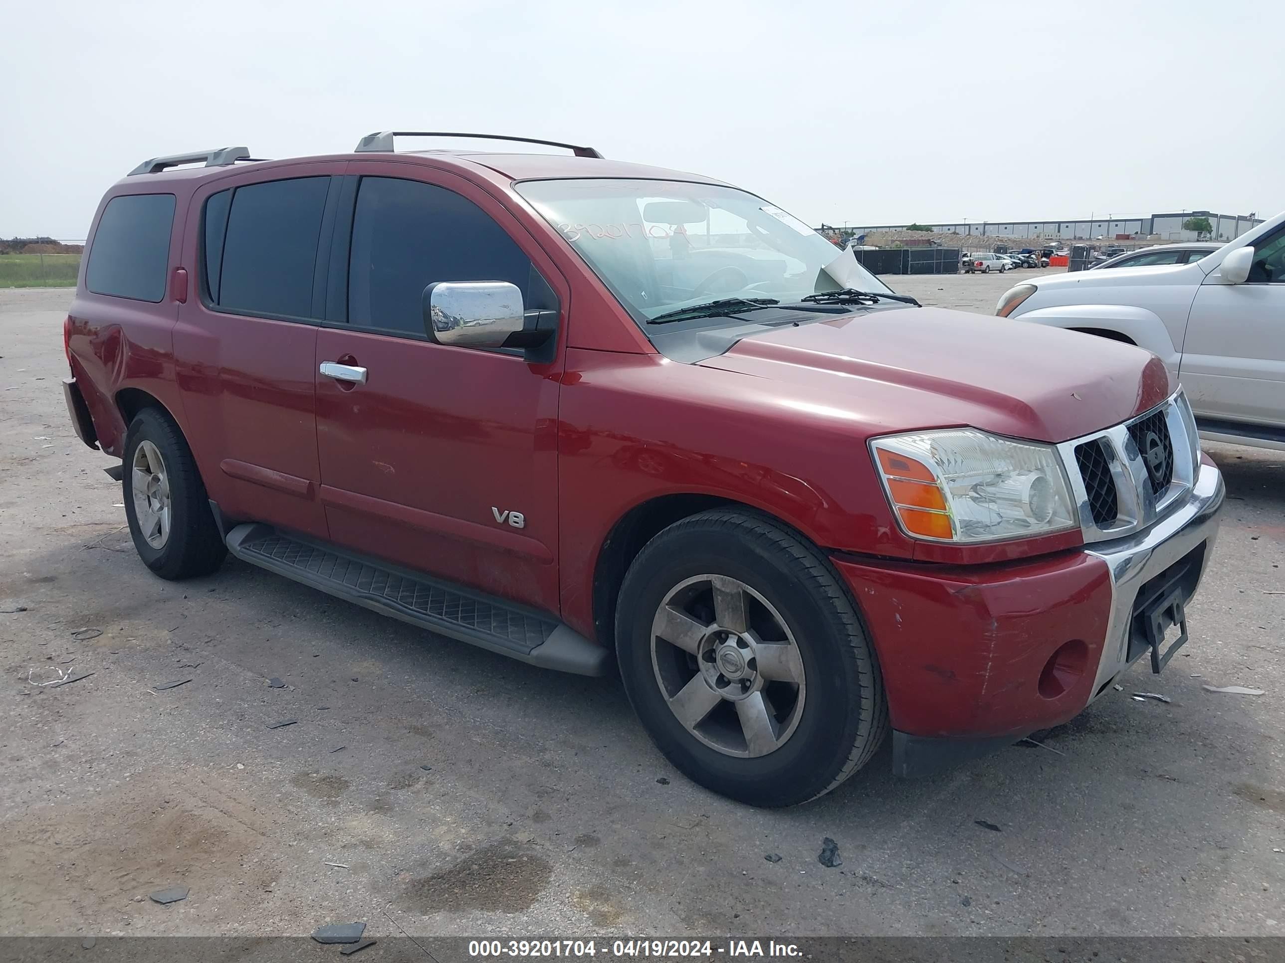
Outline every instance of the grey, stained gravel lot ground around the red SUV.
<path id="1" fill-rule="evenodd" d="M 891 280 L 983 312 L 1015 282 Z M 0 932 L 1285 932 L 1285 456 L 1209 447 L 1230 501 L 1164 675 L 1136 668 L 1047 749 L 900 782 L 885 747 L 825 799 L 757 811 L 672 770 L 614 678 L 231 559 L 152 577 L 63 406 L 69 300 L 0 291 Z M 55 669 L 93 674 L 28 683 Z M 146 900 L 172 885 L 190 896 Z"/>

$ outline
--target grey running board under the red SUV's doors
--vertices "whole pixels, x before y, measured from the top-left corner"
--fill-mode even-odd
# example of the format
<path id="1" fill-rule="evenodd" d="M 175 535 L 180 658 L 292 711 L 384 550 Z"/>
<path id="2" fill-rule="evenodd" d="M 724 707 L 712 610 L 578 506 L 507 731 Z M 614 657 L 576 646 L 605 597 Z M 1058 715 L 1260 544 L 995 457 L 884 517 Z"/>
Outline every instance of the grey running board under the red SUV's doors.
<path id="1" fill-rule="evenodd" d="M 607 648 L 535 609 L 346 548 L 287 535 L 270 525 L 238 525 L 226 541 L 227 551 L 242 561 L 411 625 L 544 669 L 577 675 L 601 675 L 607 670 Z"/>

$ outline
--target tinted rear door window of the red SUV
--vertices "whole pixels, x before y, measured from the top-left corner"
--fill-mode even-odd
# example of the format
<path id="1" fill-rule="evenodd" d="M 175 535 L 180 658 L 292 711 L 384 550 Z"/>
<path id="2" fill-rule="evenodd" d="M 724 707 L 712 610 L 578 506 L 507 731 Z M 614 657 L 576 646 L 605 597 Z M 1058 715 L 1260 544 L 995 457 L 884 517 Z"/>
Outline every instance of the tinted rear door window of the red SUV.
<path id="1" fill-rule="evenodd" d="M 312 273 L 329 189 L 329 177 L 236 189 L 217 279 L 220 307 L 248 315 L 312 315 Z"/>

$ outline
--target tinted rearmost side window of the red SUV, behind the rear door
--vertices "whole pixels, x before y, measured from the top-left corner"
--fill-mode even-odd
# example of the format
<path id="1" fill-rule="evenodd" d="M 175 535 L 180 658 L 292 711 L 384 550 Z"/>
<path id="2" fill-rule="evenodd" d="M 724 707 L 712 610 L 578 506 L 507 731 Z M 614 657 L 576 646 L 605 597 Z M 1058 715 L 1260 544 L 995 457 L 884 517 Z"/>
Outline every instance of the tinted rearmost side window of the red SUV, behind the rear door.
<path id="1" fill-rule="evenodd" d="M 85 268 L 94 294 L 153 303 L 164 298 L 173 194 L 112 198 L 99 218 Z"/>

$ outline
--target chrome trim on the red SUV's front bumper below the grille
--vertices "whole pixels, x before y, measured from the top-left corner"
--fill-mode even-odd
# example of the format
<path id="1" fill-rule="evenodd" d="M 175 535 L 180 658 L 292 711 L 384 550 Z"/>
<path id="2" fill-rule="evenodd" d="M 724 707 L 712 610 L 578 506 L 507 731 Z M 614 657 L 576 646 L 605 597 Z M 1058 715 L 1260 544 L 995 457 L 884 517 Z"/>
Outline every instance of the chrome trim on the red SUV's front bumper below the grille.
<path id="1" fill-rule="evenodd" d="M 1205 543 L 1205 553 L 1200 577 L 1204 575 L 1218 535 L 1218 511 L 1225 496 L 1222 473 L 1213 462 L 1201 461 L 1191 492 L 1181 507 L 1142 532 L 1110 542 L 1097 542 L 1086 548 L 1090 555 L 1106 562 L 1112 578 L 1112 612 L 1090 702 L 1105 683 L 1128 668 L 1130 621 L 1142 584 L 1201 542 Z M 1198 588 L 1199 584 L 1198 579 Z"/>

